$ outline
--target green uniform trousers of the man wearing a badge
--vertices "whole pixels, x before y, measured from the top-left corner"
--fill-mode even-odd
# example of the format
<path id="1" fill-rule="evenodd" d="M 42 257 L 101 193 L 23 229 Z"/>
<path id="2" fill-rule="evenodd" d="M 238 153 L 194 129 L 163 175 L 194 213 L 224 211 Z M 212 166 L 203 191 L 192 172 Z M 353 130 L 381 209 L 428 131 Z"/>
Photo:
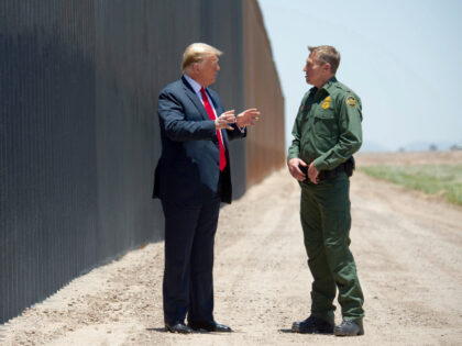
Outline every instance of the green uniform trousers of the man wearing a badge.
<path id="1" fill-rule="evenodd" d="M 361 321 L 364 297 L 349 248 L 350 180 L 341 172 L 336 179 L 318 185 L 300 185 L 300 219 L 314 278 L 311 315 L 333 323 L 333 300 L 339 288 L 343 320 Z"/>

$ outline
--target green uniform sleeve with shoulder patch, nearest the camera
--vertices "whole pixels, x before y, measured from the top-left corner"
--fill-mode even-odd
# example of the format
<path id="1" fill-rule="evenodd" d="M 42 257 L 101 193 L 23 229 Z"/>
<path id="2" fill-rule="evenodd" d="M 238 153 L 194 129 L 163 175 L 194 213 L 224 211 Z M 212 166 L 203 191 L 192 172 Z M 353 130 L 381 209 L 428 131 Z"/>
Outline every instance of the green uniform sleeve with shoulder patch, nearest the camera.
<path id="1" fill-rule="evenodd" d="M 318 170 L 330 170 L 344 163 L 360 149 L 363 142 L 361 100 L 356 96 L 346 93 L 339 103 L 337 108 L 339 141 L 330 150 L 315 160 L 315 167 Z"/>

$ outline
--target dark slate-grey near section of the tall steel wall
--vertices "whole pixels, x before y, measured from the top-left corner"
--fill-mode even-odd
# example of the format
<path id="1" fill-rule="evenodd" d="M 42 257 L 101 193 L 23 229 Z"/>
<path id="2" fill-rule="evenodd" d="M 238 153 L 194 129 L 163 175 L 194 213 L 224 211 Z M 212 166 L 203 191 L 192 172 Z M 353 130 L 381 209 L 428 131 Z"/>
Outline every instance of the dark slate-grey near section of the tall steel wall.
<path id="1" fill-rule="evenodd" d="M 0 0 L 0 323 L 163 238 L 151 199 L 158 91 L 180 76 L 184 48 L 207 42 L 224 52 L 213 86 L 223 104 L 254 101 L 250 3 L 258 15 L 255 0 Z M 239 198 L 253 182 L 249 144 L 231 146 Z"/>

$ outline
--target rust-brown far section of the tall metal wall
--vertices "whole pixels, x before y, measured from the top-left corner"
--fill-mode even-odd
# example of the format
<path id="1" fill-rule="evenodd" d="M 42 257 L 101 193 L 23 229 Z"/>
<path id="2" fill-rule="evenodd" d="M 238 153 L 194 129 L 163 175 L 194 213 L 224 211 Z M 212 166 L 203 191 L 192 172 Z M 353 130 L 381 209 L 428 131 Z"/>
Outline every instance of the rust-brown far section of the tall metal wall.
<path id="1" fill-rule="evenodd" d="M 258 4 L 243 3 L 244 104 L 262 112 L 245 143 L 249 187 L 285 164 L 284 97 Z"/>

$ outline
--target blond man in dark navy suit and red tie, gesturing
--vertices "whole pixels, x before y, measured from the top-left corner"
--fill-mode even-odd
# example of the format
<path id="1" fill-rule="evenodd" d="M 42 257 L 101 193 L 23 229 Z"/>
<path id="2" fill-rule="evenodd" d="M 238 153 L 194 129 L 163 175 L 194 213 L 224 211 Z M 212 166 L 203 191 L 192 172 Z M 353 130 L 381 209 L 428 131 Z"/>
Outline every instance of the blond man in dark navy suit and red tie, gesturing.
<path id="1" fill-rule="evenodd" d="M 220 202 L 231 203 L 228 141 L 245 137 L 256 109 L 224 111 L 208 86 L 221 52 L 202 43 L 183 55 L 182 78 L 158 97 L 162 156 L 154 179 L 165 216 L 164 322 L 169 332 L 231 332 L 213 319 L 213 243 Z M 185 325 L 187 314 L 188 325 Z"/>

